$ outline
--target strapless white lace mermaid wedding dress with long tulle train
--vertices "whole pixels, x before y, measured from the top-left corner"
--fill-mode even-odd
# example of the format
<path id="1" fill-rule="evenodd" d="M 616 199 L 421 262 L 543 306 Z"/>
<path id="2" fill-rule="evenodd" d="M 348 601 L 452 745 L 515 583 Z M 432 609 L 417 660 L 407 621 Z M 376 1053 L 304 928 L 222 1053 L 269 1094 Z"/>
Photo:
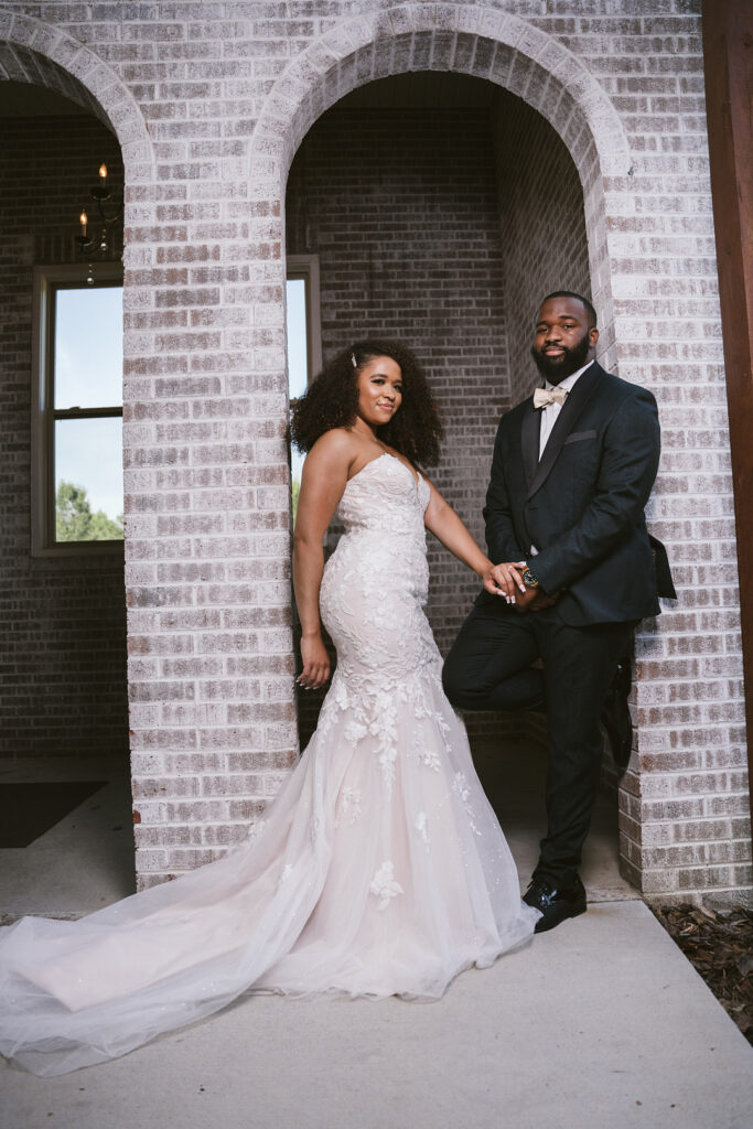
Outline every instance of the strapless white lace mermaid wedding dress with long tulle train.
<path id="1" fill-rule="evenodd" d="M 422 605 L 418 485 L 349 482 L 321 592 L 338 669 L 249 840 L 79 921 L 0 930 L 0 1052 L 40 1075 L 123 1054 L 248 991 L 437 998 L 533 933 Z"/>

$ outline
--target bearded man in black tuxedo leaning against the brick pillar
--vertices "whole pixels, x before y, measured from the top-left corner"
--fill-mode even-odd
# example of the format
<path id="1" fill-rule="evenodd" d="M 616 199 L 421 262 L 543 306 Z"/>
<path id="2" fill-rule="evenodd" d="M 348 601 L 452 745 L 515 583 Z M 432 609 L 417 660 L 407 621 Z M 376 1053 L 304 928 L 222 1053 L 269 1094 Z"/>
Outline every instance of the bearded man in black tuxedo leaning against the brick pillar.
<path id="1" fill-rule="evenodd" d="M 599 716 L 633 628 L 659 612 L 643 517 L 659 461 L 656 401 L 604 371 L 597 341 L 586 298 L 544 298 L 532 355 L 545 384 L 500 421 L 484 507 L 507 598 L 478 597 L 444 668 L 454 706 L 546 710 L 548 830 L 524 898 L 543 914 L 537 933 L 586 910 L 578 865 Z"/>

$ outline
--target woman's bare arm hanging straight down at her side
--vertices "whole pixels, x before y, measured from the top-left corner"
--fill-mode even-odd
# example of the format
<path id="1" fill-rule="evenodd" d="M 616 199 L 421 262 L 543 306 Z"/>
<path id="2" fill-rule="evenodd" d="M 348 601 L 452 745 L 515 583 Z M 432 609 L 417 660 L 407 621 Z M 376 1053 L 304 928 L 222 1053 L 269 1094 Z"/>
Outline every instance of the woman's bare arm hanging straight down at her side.
<path id="1" fill-rule="evenodd" d="M 319 588 L 324 571 L 322 545 L 326 528 L 348 481 L 352 454 L 348 438 L 327 431 L 312 447 L 300 481 L 294 531 L 292 585 L 303 629 L 298 682 L 316 690 L 330 677 L 330 657 L 322 639 Z"/>

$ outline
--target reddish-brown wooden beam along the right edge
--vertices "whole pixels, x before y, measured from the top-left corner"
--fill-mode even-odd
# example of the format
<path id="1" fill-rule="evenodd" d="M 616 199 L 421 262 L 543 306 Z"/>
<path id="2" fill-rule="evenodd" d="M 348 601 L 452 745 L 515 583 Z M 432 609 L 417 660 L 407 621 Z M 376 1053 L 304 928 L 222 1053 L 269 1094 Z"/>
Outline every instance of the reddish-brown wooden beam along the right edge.
<path id="1" fill-rule="evenodd" d="M 703 0 L 702 20 L 753 807 L 753 5 Z"/>

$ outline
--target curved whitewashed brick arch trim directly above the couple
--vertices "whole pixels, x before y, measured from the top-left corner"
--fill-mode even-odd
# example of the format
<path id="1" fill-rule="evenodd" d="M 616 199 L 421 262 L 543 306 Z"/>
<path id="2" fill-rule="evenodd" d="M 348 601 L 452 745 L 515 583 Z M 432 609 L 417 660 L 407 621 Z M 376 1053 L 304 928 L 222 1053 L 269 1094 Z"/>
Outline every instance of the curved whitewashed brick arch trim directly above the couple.
<path id="1" fill-rule="evenodd" d="M 265 237 L 283 240 L 288 169 L 316 119 L 359 86 L 421 70 L 472 75 L 502 87 L 541 113 L 567 146 L 584 192 L 604 359 L 613 364 L 605 182 L 618 192 L 630 185 L 628 139 L 612 103 L 583 62 L 517 16 L 480 5 L 403 5 L 353 17 L 312 43 L 272 87 L 251 140 L 251 199 L 266 216 L 280 217 L 264 224 Z"/>

